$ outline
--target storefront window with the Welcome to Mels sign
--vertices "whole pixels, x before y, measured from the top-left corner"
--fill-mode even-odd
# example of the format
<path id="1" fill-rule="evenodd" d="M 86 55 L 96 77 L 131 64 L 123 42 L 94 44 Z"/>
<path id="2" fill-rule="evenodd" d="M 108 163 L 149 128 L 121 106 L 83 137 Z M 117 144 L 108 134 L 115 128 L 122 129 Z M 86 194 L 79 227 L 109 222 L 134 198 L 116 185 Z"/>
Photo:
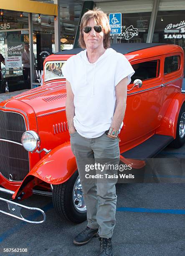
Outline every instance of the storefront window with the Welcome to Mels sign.
<path id="1" fill-rule="evenodd" d="M 5 10 L 0 16 L 0 53 L 5 58 L 1 63 L 0 92 L 5 92 L 6 82 L 10 92 L 30 88 L 30 68 L 24 76 L 25 43 L 29 43 L 28 14 L 20 17 L 19 12 Z"/>

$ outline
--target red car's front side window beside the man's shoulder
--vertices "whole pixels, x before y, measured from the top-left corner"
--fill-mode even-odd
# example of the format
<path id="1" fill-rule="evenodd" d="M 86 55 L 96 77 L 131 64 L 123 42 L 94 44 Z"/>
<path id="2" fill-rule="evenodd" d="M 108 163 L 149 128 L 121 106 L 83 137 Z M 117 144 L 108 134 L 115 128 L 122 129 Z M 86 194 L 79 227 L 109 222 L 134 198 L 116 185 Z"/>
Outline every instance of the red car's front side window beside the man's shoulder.
<path id="1" fill-rule="evenodd" d="M 132 65 L 135 73 L 131 77 L 131 83 L 135 79 L 147 80 L 159 76 L 160 72 L 160 60 L 144 61 Z"/>

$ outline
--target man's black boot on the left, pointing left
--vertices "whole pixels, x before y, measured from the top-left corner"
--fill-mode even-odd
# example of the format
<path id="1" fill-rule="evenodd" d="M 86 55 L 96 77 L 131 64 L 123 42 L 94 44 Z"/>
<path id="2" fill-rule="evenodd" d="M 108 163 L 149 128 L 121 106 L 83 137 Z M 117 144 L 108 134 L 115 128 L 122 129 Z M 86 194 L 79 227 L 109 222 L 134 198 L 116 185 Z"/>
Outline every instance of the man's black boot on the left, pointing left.
<path id="1" fill-rule="evenodd" d="M 79 233 L 73 240 L 74 245 L 81 246 L 86 243 L 89 243 L 91 238 L 95 236 L 98 237 L 98 228 L 92 229 L 89 227 L 86 227 L 85 230 L 83 230 L 81 233 Z"/>

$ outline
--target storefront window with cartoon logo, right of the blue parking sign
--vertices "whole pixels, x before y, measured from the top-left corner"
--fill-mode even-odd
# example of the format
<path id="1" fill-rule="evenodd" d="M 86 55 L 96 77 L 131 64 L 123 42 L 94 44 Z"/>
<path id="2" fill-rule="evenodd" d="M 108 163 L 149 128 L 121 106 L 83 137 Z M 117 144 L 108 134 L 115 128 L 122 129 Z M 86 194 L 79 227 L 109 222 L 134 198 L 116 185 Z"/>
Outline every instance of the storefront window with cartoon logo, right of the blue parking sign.
<path id="1" fill-rule="evenodd" d="M 122 13 L 122 34 L 117 43 L 146 43 L 151 12 Z M 111 36 L 112 43 L 114 36 Z"/>

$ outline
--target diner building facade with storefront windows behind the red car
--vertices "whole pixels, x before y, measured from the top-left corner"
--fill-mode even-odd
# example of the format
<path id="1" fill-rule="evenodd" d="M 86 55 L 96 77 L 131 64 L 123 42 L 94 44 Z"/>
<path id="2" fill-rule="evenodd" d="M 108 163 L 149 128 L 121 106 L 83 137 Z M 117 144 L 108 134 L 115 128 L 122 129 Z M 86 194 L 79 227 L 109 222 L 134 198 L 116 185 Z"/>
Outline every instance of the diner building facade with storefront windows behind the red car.
<path id="1" fill-rule="evenodd" d="M 121 13 L 121 33 L 113 43 L 177 44 L 185 51 L 184 0 L 1 0 L 0 54 L 2 81 L 9 90 L 38 86 L 43 60 L 78 46 L 82 15 L 93 7 Z"/>

